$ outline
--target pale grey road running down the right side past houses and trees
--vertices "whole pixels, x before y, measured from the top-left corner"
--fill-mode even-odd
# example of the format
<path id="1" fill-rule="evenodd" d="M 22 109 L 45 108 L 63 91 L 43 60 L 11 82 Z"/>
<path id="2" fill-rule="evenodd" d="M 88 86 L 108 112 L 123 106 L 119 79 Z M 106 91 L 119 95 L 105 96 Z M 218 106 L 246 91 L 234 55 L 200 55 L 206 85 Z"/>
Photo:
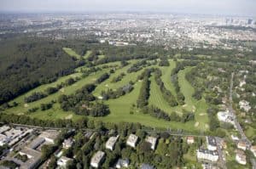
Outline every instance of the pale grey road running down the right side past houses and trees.
<path id="1" fill-rule="evenodd" d="M 234 116 L 235 127 L 236 127 L 237 131 L 240 133 L 241 139 L 247 143 L 247 148 L 250 148 L 252 146 L 252 143 L 247 138 L 245 133 L 243 132 L 243 130 L 241 128 L 241 125 L 240 125 L 239 121 L 236 118 L 235 110 L 233 110 L 233 106 L 232 106 L 232 104 L 233 104 L 233 99 L 232 99 L 232 95 L 233 95 L 233 81 L 234 81 L 234 72 L 231 74 L 231 80 L 230 80 L 230 105 L 229 105 L 229 110 L 230 110 L 230 113 L 232 113 L 232 115 Z M 251 160 L 253 169 L 256 169 L 256 161 L 255 161 L 255 159 L 251 158 L 250 160 Z"/>

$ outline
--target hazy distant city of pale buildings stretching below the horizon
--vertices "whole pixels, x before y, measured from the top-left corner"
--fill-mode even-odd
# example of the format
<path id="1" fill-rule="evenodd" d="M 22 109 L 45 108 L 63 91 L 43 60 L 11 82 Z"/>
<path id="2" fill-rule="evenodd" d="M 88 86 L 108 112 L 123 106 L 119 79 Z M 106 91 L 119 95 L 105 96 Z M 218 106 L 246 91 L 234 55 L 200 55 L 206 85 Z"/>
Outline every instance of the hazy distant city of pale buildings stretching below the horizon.
<path id="1" fill-rule="evenodd" d="M 256 20 L 193 14 L 2 14 L 0 34 L 32 33 L 65 39 L 95 37 L 116 46 L 147 43 L 166 48 L 238 48 L 256 40 Z"/>

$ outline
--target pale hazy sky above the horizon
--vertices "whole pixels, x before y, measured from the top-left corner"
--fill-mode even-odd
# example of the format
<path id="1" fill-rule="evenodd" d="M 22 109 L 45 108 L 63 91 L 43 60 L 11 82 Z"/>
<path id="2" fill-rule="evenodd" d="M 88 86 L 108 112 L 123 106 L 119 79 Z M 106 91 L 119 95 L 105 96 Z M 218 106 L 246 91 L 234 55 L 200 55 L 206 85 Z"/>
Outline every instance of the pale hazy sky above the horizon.
<path id="1" fill-rule="evenodd" d="M 256 0 L 0 0 L 0 12 L 165 12 L 256 16 Z"/>

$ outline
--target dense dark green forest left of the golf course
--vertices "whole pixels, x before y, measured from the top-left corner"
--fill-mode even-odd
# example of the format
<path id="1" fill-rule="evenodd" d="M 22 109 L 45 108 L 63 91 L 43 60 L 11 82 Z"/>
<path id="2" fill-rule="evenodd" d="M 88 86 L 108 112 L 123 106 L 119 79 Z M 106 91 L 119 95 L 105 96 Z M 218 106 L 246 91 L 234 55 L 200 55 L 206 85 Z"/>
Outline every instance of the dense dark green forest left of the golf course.
<path id="1" fill-rule="evenodd" d="M 0 42 L 0 59 L 0 104 L 83 65 L 62 51 L 61 42 L 38 38 Z"/>

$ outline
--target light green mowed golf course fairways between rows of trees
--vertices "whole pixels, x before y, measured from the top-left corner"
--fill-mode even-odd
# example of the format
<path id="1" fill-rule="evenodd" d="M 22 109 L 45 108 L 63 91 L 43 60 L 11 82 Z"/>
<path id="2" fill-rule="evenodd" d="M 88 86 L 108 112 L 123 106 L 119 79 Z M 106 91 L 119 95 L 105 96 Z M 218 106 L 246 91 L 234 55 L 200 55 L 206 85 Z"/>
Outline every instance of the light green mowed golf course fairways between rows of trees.
<path id="1" fill-rule="evenodd" d="M 78 54 L 76 54 L 72 49 L 69 48 L 63 48 L 67 54 L 70 54 L 73 57 L 79 57 Z M 84 55 L 84 58 L 88 57 L 91 54 L 90 51 L 87 52 L 87 54 Z M 176 106 L 171 107 L 168 103 L 166 103 L 166 100 L 162 97 L 162 94 L 160 92 L 160 87 L 156 84 L 154 81 L 154 73 L 150 77 L 150 97 L 148 99 L 149 104 L 154 104 L 155 106 L 159 107 L 161 110 L 165 110 L 166 113 L 171 114 L 173 111 L 177 112 L 177 114 L 182 115 L 183 109 L 189 110 L 195 112 L 195 121 L 189 121 L 186 123 L 182 122 L 174 122 L 174 121 L 164 121 L 159 120 L 155 117 L 152 117 L 148 114 L 143 114 L 141 110 L 137 109 L 137 98 L 138 94 L 142 85 L 142 82 L 137 81 L 137 76 L 139 76 L 143 70 L 138 70 L 137 72 L 127 73 L 127 70 L 131 67 L 131 65 L 137 63 L 138 60 L 129 60 L 129 65 L 126 65 L 125 67 L 120 68 L 119 62 L 112 62 L 104 65 L 108 66 L 115 66 L 115 72 L 110 75 L 110 77 L 97 85 L 95 91 L 93 94 L 98 97 L 101 95 L 101 92 L 103 90 L 108 90 L 108 88 L 111 89 L 117 89 L 119 87 L 123 87 L 126 84 L 128 84 L 130 81 L 135 82 L 134 89 L 131 93 L 127 93 L 124 96 L 121 96 L 119 99 L 109 99 L 107 101 L 104 101 L 105 104 L 109 105 L 109 109 L 111 111 L 110 115 L 103 116 L 103 117 L 90 117 L 90 119 L 94 119 L 96 121 L 105 121 L 105 122 L 119 122 L 119 121 L 127 121 L 127 122 L 139 122 L 145 126 L 148 127 L 171 127 L 173 129 L 179 128 L 184 129 L 187 131 L 201 131 L 201 130 L 207 130 L 207 104 L 205 100 L 196 101 L 195 99 L 192 99 L 192 94 L 194 93 L 194 88 L 189 84 L 189 82 L 185 79 L 185 74 L 189 72 L 189 70 L 192 69 L 192 67 L 188 67 L 185 70 L 181 70 L 178 72 L 178 82 L 181 87 L 181 92 L 185 96 L 185 105 L 183 106 Z M 172 92 L 176 96 L 175 89 L 171 82 L 171 72 L 172 69 L 176 66 L 176 63 L 173 60 L 169 60 L 170 66 L 168 67 L 159 67 L 158 65 L 153 65 L 150 67 L 158 67 L 162 71 L 161 79 L 165 83 L 165 86 L 168 90 Z M 97 65 L 99 67 L 102 67 L 103 65 Z M 44 120 L 48 119 L 73 119 L 74 121 L 79 119 L 81 115 L 75 115 L 73 112 L 69 111 L 63 111 L 61 110 L 60 104 L 55 103 L 53 104 L 53 107 L 49 110 L 37 110 L 33 113 L 27 113 L 27 110 L 34 108 L 34 107 L 40 107 L 41 104 L 49 103 L 52 100 L 57 100 L 61 94 L 70 95 L 73 94 L 76 90 L 83 87 L 85 84 L 93 83 L 95 80 L 101 76 L 104 72 L 109 72 L 110 69 L 113 69 L 111 67 L 108 67 L 107 69 L 99 70 L 95 73 L 90 74 L 90 76 L 82 77 L 82 73 L 80 72 L 81 69 L 88 69 L 85 66 L 81 66 L 75 70 L 75 73 L 69 76 L 62 76 L 59 78 L 56 82 L 52 82 L 49 84 L 44 84 L 39 87 L 36 87 L 29 91 L 28 93 L 25 93 L 16 99 L 12 100 L 10 104 L 13 102 L 18 103 L 18 106 L 10 108 L 8 110 L 5 110 L 6 113 L 14 113 L 17 115 L 30 115 L 35 118 L 40 118 Z M 119 76 L 120 73 L 125 73 L 125 76 L 121 79 L 119 82 L 111 82 L 113 77 Z M 70 77 L 76 77 L 78 76 L 80 79 L 78 82 L 75 82 L 73 85 L 61 88 L 60 91 L 57 93 L 50 94 L 44 99 L 39 99 L 37 101 L 34 101 L 32 103 L 26 104 L 24 102 L 25 97 L 31 95 L 34 92 L 44 92 L 44 90 L 47 87 L 55 87 L 57 84 L 61 84 L 61 82 L 65 82 Z"/>

